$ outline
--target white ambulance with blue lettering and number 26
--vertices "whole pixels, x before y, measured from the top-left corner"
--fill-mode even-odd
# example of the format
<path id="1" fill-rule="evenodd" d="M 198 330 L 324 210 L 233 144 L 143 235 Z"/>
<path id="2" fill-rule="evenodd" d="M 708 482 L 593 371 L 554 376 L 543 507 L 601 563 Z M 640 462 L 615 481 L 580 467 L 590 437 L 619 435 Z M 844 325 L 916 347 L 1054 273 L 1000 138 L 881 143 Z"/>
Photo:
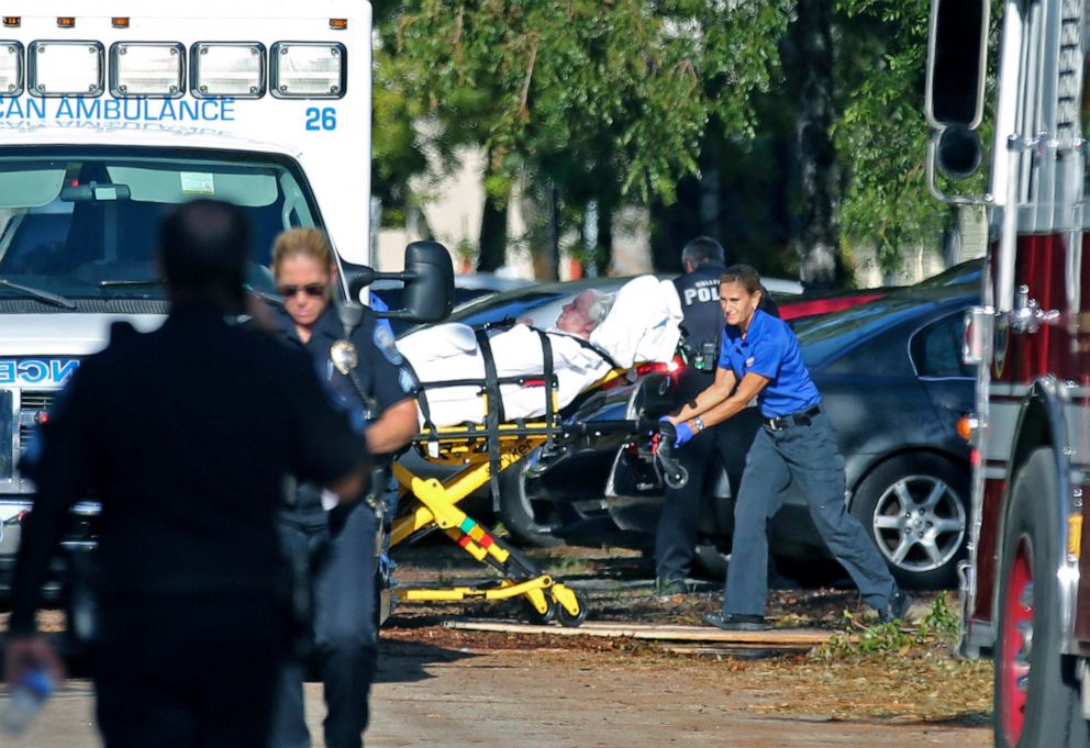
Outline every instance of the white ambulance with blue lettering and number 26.
<path id="1" fill-rule="evenodd" d="M 240 205 L 248 286 L 274 302 L 276 235 L 323 228 L 349 301 L 364 272 L 349 270 L 370 257 L 371 97 L 366 0 L 12 0 L 2 13 L 0 598 L 32 506 L 19 459 L 35 424 L 113 323 L 165 319 L 153 249 L 166 212 Z M 449 256 L 425 244 L 407 250 L 419 267 L 387 276 L 432 279 L 407 306 L 446 303 L 424 286 Z M 75 507 L 70 551 L 93 545 L 98 509 Z"/>

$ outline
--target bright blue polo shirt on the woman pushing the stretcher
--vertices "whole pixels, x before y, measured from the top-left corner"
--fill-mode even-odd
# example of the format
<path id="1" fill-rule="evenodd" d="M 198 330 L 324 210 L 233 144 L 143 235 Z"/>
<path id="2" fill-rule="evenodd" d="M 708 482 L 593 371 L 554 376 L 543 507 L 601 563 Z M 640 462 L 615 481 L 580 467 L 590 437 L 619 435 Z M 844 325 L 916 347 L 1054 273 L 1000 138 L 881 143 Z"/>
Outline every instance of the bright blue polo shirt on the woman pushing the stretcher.
<path id="1" fill-rule="evenodd" d="M 745 337 L 736 326 L 726 325 L 719 350 L 720 368 L 731 369 L 738 381 L 747 371 L 769 380 L 757 395 L 760 414 L 766 418 L 798 413 L 821 402 L 802 362 L 799 338 L 779 317 L 758 309 Z"/>

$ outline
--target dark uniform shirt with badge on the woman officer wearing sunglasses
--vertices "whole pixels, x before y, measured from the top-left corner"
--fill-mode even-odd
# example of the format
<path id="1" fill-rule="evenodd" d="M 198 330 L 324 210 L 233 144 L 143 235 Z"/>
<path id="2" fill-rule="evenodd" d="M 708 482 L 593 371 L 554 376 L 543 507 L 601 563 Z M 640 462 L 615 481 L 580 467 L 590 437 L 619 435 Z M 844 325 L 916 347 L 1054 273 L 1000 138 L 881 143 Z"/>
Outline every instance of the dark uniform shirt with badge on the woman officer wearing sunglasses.
<path id="1" fill-rule="evenodd" d="M 330 348 L 345 337 L 344 325 L 332 304 L 319 317 L 305 344 L 299 339 L 296 323 L 287 311 L 279 310 L 277 324 L 286 339 L 307 350 L 319 380 L 337 408 L 347 413 L 357 431 L 363 432 L 366 421 L 377 418 L 391 405 L 414 397 L 416 378 L 411 367 L 398 353 L 389 325 L 381 324 L 370 310 L 364 309 L 364 316 L 351 337 L 358 361 L 354 370 L 358 388 L 352 378 L 336 369 L 330 358 Z M 370 402 L 364 402 L 360 390 Z M 325 523 L 321 493 L 316 487 L 304 485 L 300 489 L 298 503 L 287 512 L 286 518 L 308 525 Z"/>

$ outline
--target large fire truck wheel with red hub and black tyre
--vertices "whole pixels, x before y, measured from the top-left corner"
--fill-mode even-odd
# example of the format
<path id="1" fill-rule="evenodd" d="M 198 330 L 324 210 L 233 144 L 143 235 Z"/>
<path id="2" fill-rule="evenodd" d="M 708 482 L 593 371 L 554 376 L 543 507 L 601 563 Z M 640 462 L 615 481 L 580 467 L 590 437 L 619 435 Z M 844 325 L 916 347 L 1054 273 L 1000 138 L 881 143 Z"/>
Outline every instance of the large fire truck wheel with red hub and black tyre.
<path id="1" fill-rule="evenodd" d="M 996 643 L 998 748 L 1086 746 L 1074 660 L 1059 654 L 1056 458 L 1038 448 L 1014 479 L 1003 536 Z M 1042 615 L 1036 615 L 1037 613 Z"/>

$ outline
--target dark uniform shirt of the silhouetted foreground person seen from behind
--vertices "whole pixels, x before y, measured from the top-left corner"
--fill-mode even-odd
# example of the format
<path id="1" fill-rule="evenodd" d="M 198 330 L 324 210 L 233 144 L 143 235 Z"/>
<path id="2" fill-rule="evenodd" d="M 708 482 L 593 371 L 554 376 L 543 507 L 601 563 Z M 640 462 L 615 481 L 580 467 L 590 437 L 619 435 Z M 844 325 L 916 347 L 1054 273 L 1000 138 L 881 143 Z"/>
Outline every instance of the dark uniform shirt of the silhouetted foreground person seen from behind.
<path id="1" fill-rule="evenodd" d="M 74 501 L 102 502 L 104 598 L 275 594 L 286 478 L 335 482 L 365 454 L 305 356 L 213 306 L 179 304 L 158 331 L 116 332 L 43 428 L 10 629 L 34 628 Z"/>

